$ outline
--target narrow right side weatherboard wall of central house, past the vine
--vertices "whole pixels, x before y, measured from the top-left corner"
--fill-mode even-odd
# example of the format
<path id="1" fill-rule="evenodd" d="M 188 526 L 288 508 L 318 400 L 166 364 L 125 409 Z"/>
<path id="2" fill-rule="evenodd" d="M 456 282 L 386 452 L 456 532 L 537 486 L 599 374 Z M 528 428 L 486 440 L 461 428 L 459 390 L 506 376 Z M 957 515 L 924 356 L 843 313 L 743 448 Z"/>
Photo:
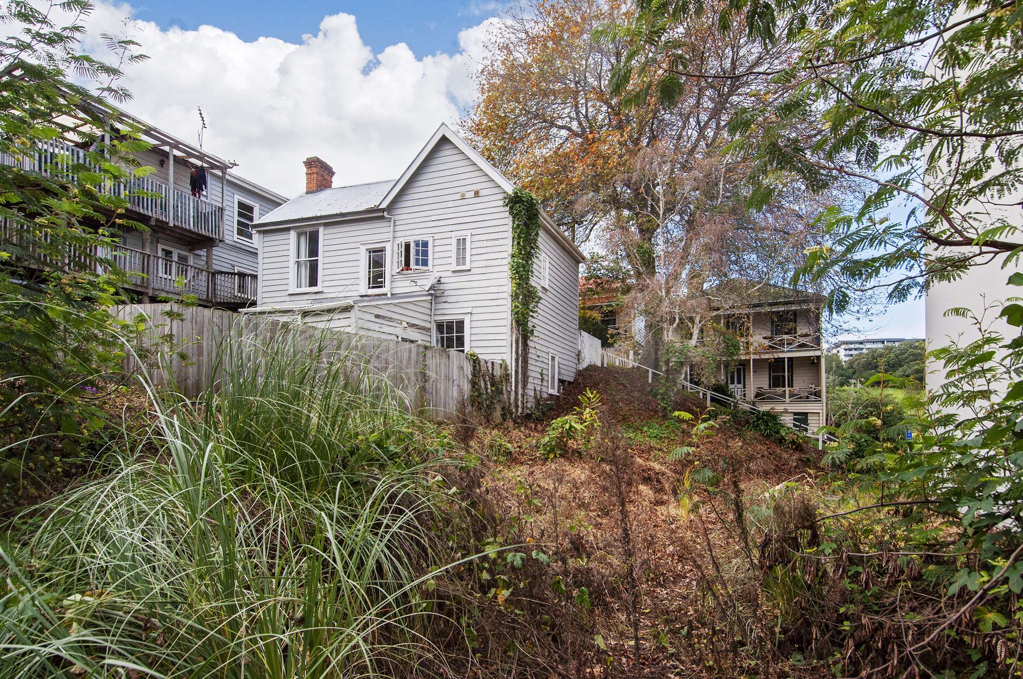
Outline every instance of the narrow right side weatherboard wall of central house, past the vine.
<path id="1" fill-rule="evenodd" d="M 549 261 L 546 288 L 540 287 L 543 258 Z M 547 394 L 550 354 L 558 356 L 559 379 L 574 380 L 579 356 L 579 265 L 540 231 L 540 256 L 533 263 L 533 284 L 540 289 L 540 304 L 533 316 L 529 341 L 529 386 L 526 393 Z"/>

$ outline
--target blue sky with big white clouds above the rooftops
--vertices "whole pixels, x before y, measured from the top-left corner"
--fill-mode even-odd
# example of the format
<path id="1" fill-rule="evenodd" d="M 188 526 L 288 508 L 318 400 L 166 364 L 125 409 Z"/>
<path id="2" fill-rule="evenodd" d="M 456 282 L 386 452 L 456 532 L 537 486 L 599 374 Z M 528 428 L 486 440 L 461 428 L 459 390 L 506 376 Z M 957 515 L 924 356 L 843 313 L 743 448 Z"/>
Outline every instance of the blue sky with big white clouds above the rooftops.
<path id="1" fill-rule="evenodd" d="M 457 123 L 499 2 L 96 4 L 93 29 L 121 32 L 130 16 L 150 56 L 125 79 L 132 112 L 192 139 L 202 106 L 207 148 L 293 195 L 308 155 L 330 163 L 338 185 L 389 179 L 440 123 Z M 879 309 L 855 330 L 840 336 L 923 336 L 923 301 Z"/>

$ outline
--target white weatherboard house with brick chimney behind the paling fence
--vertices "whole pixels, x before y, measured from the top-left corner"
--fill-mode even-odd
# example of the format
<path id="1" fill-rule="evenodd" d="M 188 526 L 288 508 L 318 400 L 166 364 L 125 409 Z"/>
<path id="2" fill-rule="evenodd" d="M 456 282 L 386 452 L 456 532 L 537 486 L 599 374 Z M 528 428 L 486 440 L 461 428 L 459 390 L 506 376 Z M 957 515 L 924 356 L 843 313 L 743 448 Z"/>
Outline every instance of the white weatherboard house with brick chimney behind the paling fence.
<path id="1" fill-rule="evenodd" d="M 515 363 L 511 182 L 445 125 L 397 180 L 333 188 L 323 161 L 305 166 L 306 193 L 254 225 L 259 291 L 247 311 Z M 584 260 L 544 215 L 530 399 L 575 378 Z"/>

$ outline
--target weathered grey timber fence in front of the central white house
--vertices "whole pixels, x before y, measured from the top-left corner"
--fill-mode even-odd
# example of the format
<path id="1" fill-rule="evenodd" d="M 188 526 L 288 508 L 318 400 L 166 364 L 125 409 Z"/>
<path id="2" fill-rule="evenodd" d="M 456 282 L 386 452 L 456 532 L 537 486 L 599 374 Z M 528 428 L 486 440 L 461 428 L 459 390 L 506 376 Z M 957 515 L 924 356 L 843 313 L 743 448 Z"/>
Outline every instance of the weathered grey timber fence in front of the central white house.
<path id="1" fill-rule="evenodd" d="M 337 360 L 351 360 L 366 366 L 371 374 L 391 386 L 406 408 L 435 420 L 452 421 L 474 414 L 499 417 L 510 403 L 506 366 L 474 359 L 461 352 L 325 330 L 223 309 L 137 304 L 116 307 L 115 313 L 121 320 L 142 320 L 137 326 L 141 328 L 138 336 L 130 341 L 134 346 L 125 359 L 125 371 L 144 371 L 154 386 L 173 384 L 186 398 L 196 398 L 211 388 L 217 389 L 227 371 L 224 361 L 230 352 L 236 354 L 237 348 L 246 343 L 250 346 L 272 343 L 275 336 L 284 336 L 281 334 L 284 332 L 288 334 L 288 342 L 297 341 L 296 347 L 323 346 L 327 350 L 324 356 L 328 358 L 336 356 Z M 246 351 L 251 351 L 251 347 Z M 232 362 L 236 360 L 231 359 Z M 254 365 L 258 366 L 259 361 L 254 361 Z M 483 404 L 490 412 L 480 412 Z"/>

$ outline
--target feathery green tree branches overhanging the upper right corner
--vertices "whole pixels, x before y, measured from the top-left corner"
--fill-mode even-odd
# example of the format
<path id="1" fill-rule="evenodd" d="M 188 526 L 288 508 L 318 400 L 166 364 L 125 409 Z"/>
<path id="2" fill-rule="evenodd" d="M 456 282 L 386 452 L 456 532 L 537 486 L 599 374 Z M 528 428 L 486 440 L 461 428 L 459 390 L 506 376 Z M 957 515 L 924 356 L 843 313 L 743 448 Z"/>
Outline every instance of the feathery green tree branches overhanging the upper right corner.
<path id="1" fill-rule="evenodd" d="M 730 150 L 756 166 L 752 208 L 783 190 L 780 173 L 815 190 L 851 180 L 863 191 L 854 209 L 822 216 L 830 242 L 812 247 L 800 272 L 820 280 L 841 271 L 855 282 L 832 290 L 835 309 L 875 288 L 898 302 L 1019 255 L 1021 214 L 1008 197 L 1023 180 L 1019 2 L 729 3 L 715 8 L 720 31 L 742 26 L 763 50 L 794 49 L 788 64 L 741 72 L 708 67 L 716 64 L 678 44 L 703 3 L 638 7 L 614 32 L 630 47 L 612 78 L 637 105 L 677 100 L 693 81 L 766 79 L 759 100 L 729 121 Z M 905 219 L 892 217 L 896 206 Z"/>

